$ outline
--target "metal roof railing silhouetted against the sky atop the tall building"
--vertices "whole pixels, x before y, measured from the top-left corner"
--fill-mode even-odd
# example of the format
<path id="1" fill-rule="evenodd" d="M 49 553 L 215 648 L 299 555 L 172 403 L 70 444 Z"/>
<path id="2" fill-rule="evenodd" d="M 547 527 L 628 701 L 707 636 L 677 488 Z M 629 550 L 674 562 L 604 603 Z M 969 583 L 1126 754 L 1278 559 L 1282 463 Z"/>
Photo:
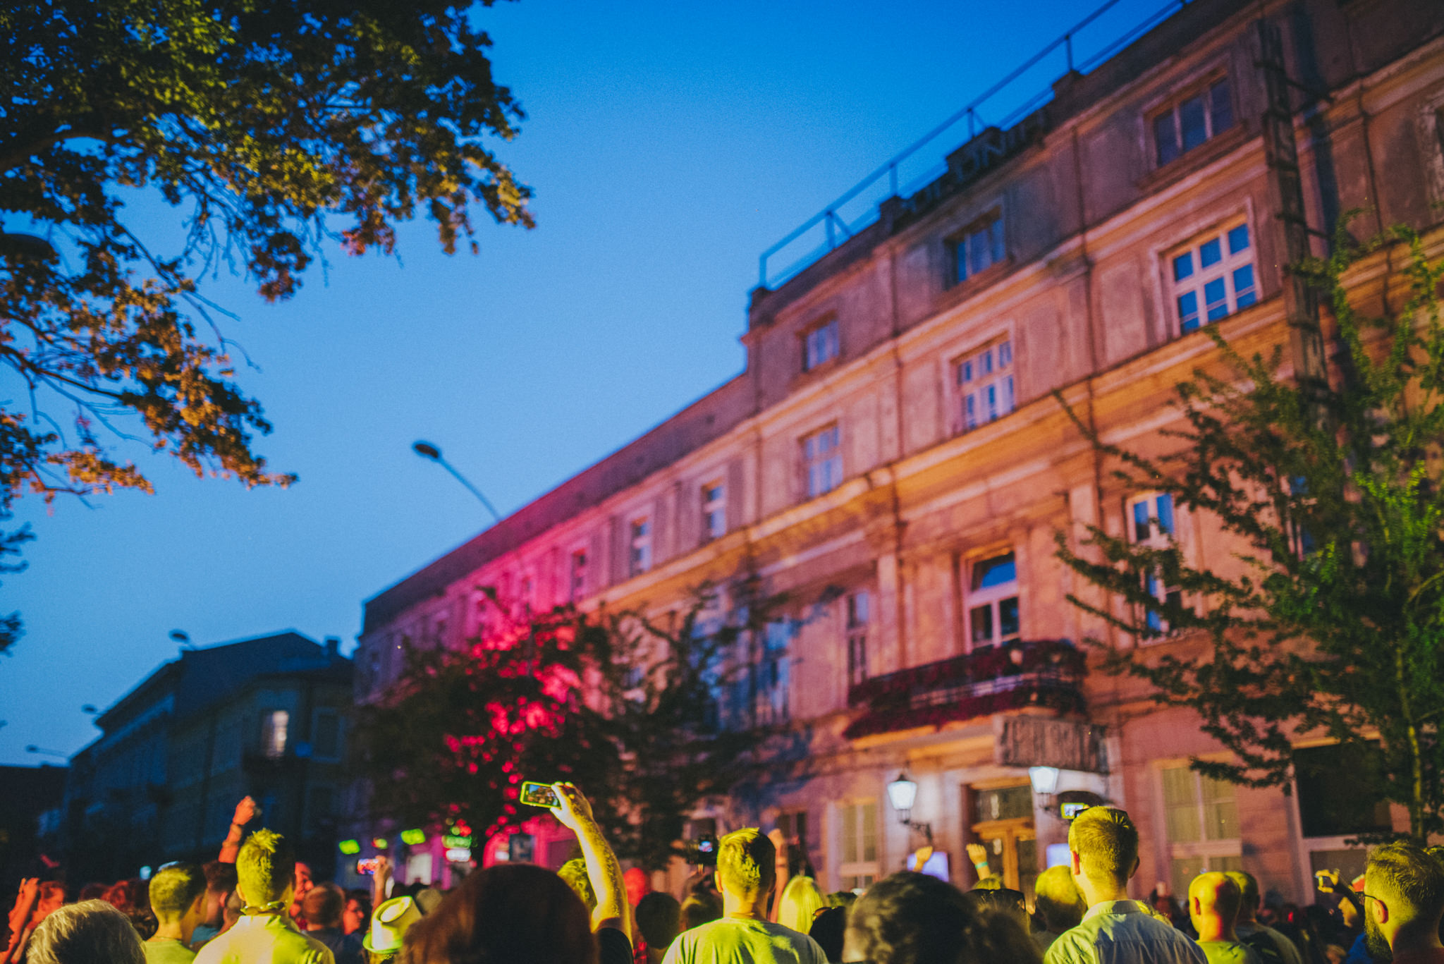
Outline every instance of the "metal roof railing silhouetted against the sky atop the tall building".
<path id="1" fill-rule="evenodd" d="M 1035 82 L 1035 78 L 1040 77 L 1041 71 L 1047 69 L 1050 58 L 1060 49 L 1064 56 L 1064 75 L 1074 71 L 1086 74 L 1148 30 L 1152 30 L 1183 7 L 1188 6 L 1190 0 L 1170 0 L 1165 6 L 1149 13 L 1141 23 L 1126 29 L 1122 35 L 1113 35 L 1113 39 L 1106 42 L 1102 48 L 1092 51 L 1084 59 L 1074 62 L 1074 40 L 1077 39 L 1077 35 L 1092 26 L 1099 17 L 1108 13 L 1112 7 L 1118 6 L 1121 1 L 1122 0 L 1106 0 L 1096 10 L 1074 23 L 1066 33 L 1014 68 L 1001 81 L 975 97 L 965 107 L 953 113 L 947 120 L 923 134 L 923 137 L 894 155 L 877 171 L 839 195 L 826 208 L 800 224 L 787 237 L 762 251 L 758 259 L 758 285 L 762 288 L 777 288 L 786 283 L 827 251 L 832 251 L 839 244 L 846 243 L 848 238 L 877 221 L 878 207 L 884 199 L 891 197 L 905 197 L 905 194 L 913 194 L 941 176 L 941 173 L 946 172 L 946 165 L 934 160 L 924 171 L 914 172 L 905 184 L 900 185 L 900 176 L 902 176 L 900 172 L 905 163 L 913 159 L 918 150 L 952 132 L 963 121 L 967 123 L 967 139 L 970 140 L 978 134 L 979 123 L 985 127 L 1008 130 L 1011 126 L 1051 101 L 1051 81 L 1058 77 L 1057 74 L 1050 75 L 1048 81 L 1044 81 L 1045 85 L 1043 90 L 1038 90 L 1031 97 L 1025 97 L 1025 100 L 1014 106 L 1012 110 L 1008 110 L 1006 103 L 1002 103 L 999 108 L 1008 110 L 1008 113 L 999 120 L 991 123 L 983 121 L 979 113 L 979 108 L 986 106 L 989 101 L 1002 101 L 1006 95 L 1017 94 L 1012 88 L 1021 87 L 1021 82 Z M 1056 71 L 1057 68 L 1054 66 L 1053 69 Z M 775 273 L 768 275 L 768 262 L 775 260 L 778 256 L 790 256 L 791 260 L 788 260 L 788 263 Z"/>

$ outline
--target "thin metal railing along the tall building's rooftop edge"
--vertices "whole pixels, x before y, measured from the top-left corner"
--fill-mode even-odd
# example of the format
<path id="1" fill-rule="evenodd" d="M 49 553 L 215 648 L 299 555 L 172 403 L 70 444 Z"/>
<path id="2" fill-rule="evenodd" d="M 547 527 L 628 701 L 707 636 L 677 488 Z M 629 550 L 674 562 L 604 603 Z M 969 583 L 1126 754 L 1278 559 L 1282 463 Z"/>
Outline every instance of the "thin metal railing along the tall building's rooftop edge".
<path id="1" fill-rule="evenodd" d="M 881 168 L 845 191 L 826 208 L 810 217 L 787 237 L 762 251 L 758 285 L 777 288 L 813 264 L 827 251 L 848 241 L 878 220 L 878 207 L 891 197 L 907 197 L 947 172 L 936 156 L 918 158 L 923 147 L 944 134 L 956 137 L 966 124 L 967 140 L 986 129 L 1008 130 L 1045 107 L 1054 97 L 1053 82 L 1061 75 L 1087 74 L 1139 36 L 1152 30 L 1188 4 L 1170 0 L 1141 23 L 1116 32 L 1116 25 L 1102 17 L 1122 0 L 1108 0 L 1067 32 L 1024 61 L 1001 81 L 975 97 L 941 124 L 892 156 Z M 1105 33 L 1108 30 L 1108 33 Z M 1109 39 L 1110 38 L 1110 39 Z M 1092 49 L 1092 42 L 1102 46 Z M 1086 56 L 1082 56 L 1087 51 Z M 1063 72 L 1058 72 L 1058 58 Z M 1031 91 L 1031 92 L 1030 92 Z M 996 119 L 985 117 L 996 108 Z M 781 267 L 774 267 L 783 262 Z"/>

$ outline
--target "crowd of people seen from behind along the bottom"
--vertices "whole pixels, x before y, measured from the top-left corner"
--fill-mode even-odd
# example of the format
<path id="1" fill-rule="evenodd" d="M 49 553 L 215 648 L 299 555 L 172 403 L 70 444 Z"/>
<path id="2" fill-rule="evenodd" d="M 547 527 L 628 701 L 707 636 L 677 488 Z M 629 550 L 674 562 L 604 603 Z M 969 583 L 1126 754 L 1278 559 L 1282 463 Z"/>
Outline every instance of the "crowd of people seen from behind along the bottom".
<path id="1" fill-rule="evenodd" d="M 586 798 L 553 789 L 579 857 L 557 873 L 485 867 L 448 893 L 399 886 L 384 860 L 371 893 L 315 883 L 280 834 L 241 843 L 243 801 L 204 867 L 88 885 L 74 903 L 56 882 L 23 882 L 0 964 L 1444 964 L 1444 848 L 1406 840 L 1370 851 L 1357 892 L 1320 876 L 1334 908 L 1262 906 L 1258 882 L 1236 872 L 1199 874 L 1178 906 L 1157 890 L 1128 896 L 1138 831 L 1125 811 L 1095 806 L 1030 908 L 979 851 L 967 892 L 901 872 L 825 895 L 744 828 L 679 900 L 624 874 Z"/>

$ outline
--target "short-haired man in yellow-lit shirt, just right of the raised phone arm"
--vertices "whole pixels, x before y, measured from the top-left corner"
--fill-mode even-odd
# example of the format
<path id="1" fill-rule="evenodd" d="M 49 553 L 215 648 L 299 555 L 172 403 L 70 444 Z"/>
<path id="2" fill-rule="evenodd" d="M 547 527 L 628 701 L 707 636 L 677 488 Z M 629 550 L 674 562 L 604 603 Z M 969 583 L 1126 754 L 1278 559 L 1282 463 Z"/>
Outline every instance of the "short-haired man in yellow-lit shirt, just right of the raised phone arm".
<path id="1" fill-rule="evenodd" d="M 718 843 L 722 918 L 683 932 L 663 964 L 827 964 L 817 941 L 767 919 L 777 848 L 755 827 Z"/>

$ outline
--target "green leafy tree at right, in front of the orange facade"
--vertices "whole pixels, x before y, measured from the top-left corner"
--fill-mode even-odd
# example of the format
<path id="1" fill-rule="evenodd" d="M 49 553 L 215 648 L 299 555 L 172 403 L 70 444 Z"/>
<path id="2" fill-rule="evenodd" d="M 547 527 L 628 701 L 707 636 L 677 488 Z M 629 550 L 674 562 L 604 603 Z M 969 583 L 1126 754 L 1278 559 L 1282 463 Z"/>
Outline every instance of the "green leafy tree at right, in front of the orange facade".
<path id="1" fill-rule="evenodd" d="M 1194 769 L 1288 792 L 1292 739 L 1326 736 L 1379 762 L 1336 776 L 1372 780 L 1422 838 L 1444 830 L 1444 269 L 1406 228 L 1359 244 L 1341 227 L 1330 259 L 1297 270 L 1331 309 L 1324 379 L 1210 331 L 1220 366 L 1177 386 L 1187 428 L 1165 432 L 1181 442 L 1170 454 L 1103 444 L 1074 418 L 1125 487 L 1216 523 L 1232 562 L 1196 568 L 1173 535 L 1149 546 L 1099 528 L 1077 549 L 1060 536 L 1058 556 L 1108 601 L 1069 598 L 1125 636 L 1204 642 L 1197 660 L 1119 647 L 1106 662 L 1194 708 L 1238 759 Z"/>

